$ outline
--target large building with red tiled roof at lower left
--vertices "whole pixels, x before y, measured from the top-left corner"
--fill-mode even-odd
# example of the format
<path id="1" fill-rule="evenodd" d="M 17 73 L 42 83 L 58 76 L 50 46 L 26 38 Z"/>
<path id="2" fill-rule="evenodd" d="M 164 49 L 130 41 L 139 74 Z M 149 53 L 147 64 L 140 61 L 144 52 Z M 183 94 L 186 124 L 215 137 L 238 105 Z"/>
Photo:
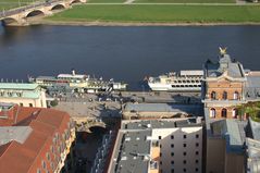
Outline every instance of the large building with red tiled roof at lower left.
<path id="1" fill-rule="evenodd" d="M 75 128 L 67 113 L 9 103 L 0 110 L 1 172 L 71 172 Z"/>

